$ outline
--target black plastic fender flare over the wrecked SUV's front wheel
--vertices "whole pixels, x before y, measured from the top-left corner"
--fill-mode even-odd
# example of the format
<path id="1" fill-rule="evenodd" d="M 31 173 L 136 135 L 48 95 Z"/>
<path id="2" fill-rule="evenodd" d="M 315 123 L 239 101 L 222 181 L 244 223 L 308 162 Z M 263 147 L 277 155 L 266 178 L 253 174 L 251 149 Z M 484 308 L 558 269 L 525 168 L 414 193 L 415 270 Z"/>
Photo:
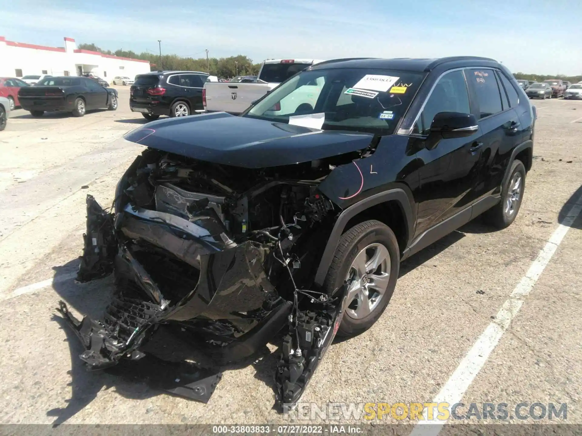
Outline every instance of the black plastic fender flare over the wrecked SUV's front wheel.
<path id="1" fill-rule="evenodd" d="M 410 198 L 409 195 L 406 194 L 406 191 L 401 188 L 393 188 L 388 191 L 371 195 L 368 198 L 364 198 L 343 210 L 335 221 L 327 245 L 325 245 L 324 252 L 321 256 L 320 265 L 317 267 L 317 272 L 315 273 L 315 284 L 319 286 L 324 284 L 325 276 L 327 276 L 329 266 L 333 260 L 333 254 L 335 253 L 336 248 L 338 248 L 339 238 L 345 230 L 347 222 L 360 212 L 388 201 L 396 201 L 399 203 L 404 217 L 406 218 L 406 225 L 408 227 L 407 230 L 410 239 L 410 232 L 414 228 L 414 217 L 410 205 Z"/>

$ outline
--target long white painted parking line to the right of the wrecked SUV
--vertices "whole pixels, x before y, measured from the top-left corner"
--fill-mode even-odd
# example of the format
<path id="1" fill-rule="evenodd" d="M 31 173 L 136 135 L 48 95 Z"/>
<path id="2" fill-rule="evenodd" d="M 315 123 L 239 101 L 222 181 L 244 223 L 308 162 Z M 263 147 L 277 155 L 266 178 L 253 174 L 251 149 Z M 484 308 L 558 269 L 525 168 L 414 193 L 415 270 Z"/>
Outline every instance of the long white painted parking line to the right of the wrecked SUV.
<path id="1" fill-rule="evenodd" d="M 498 344 L 499 339 L 501 339 L 503 333 L 505 333 L 505 330 L 507 330 L 509 324 L 517 315 L 517 312 L 519 312 L 524 302 L 523 299 L 530 293 L 535 282 L 540 278 L 542 271 L 548 265 L 549 260 L 552 259 L 553 254 L 558 249 L 558 245 L 560 245 L 560 242 L 562 242 L 570 226 L 572 226 L 572 223 L 580 215 L 581 211 L 582 196 L 577 199 L 568 215 L 564 217 L 558 228 L 553 231 L 548 243 L 531 263 L 526 275 L 521 278 L 521 281 L 509 295 L 509 298 L 503 303 L 501 309 L 499 309 L 499 312 L 495 316 L 495 321 L 492 321 L 485 328 L 485 331 L 477 339 L 477 342 L 473 344 L 455 372 L 453 372 L 452 376 L 450 376 L 449 380 L 443 386 L 441 392 L 432 400 L 433 402 L 447 402 L 449 405 L 453 405 L 462 400 L 463 395 L 485 365 L 485 362 L 487 362 L 489 355 Z M 417 424 L 410 433 L 410 436 L 437 436 L 444 424 L 445 422 L 443 421 L 428 421 L 425 411 L 424 422 Z"/>

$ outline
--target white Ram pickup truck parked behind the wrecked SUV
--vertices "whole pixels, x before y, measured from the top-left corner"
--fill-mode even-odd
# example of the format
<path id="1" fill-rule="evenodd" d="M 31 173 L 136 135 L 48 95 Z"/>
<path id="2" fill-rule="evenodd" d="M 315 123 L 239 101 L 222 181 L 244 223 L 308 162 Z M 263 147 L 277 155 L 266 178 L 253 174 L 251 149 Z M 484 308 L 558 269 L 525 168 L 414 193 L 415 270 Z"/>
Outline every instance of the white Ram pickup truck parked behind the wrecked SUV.
<path id="1" fill-rule="evenodd" d="M 268 59 L 263 62 L 257 83 L 207 82 L 202 91 L 206 112 L 239 114 L 251 103 L 289 77 L 316 63 L 318 59 Z"/>

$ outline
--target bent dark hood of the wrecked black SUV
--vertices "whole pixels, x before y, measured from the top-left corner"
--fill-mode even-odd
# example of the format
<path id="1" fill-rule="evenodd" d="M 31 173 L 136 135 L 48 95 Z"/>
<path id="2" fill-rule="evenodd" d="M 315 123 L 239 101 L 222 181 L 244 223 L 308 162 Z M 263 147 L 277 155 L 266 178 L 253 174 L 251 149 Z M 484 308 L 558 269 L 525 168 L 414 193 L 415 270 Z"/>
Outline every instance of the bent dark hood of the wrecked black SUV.
<path id="1" fill-rule="evenodd" d="M 161 151 L 250 169 L 342 155 L 366 148 L 372 137 L 370 133 L 314 130 L 225 112 L 154 121 L 124 136 Z"/>

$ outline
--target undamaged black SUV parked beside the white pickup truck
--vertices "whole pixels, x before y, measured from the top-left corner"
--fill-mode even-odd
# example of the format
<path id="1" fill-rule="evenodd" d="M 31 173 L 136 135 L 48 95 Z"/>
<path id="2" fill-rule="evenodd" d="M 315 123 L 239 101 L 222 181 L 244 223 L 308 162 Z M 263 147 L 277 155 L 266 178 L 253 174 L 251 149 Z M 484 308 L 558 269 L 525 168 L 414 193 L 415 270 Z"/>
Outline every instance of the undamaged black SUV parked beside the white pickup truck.
<path id="1" fill-rule="evenodd" d="M 207 79 L 207 73 L 197 71 L 139 74 L 130 88 L 129 107 L 150 121 L 160 115 L 191 115 L 196 110 L 204 110 L 202 88 Z"/>

